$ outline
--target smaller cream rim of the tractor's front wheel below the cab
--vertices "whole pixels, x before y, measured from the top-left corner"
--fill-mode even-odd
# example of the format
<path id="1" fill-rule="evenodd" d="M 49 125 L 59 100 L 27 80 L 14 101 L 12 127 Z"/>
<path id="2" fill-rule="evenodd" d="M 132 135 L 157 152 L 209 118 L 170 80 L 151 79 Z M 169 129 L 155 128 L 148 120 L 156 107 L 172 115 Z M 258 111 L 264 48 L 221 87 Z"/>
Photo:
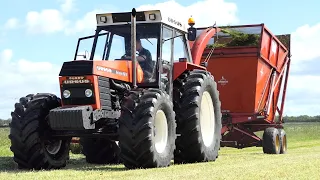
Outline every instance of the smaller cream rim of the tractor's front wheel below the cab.
<path id="1" fill-rule="evenodd" d="M 168 141 L 167 117 L 162 110 L 158 110 L 156 113 L 154 128 L 155 148 L 158 153 L 162 153 L 165 150 Z"/>

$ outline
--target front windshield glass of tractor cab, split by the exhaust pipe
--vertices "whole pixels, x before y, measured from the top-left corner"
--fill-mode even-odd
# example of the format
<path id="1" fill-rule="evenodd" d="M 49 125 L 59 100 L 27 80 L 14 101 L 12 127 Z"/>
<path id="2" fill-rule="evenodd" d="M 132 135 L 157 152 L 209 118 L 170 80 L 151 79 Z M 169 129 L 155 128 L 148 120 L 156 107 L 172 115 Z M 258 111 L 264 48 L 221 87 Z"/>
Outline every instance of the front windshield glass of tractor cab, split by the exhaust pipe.
<path id="1" fill-rule="evenodd" d="M 136 56 L 145 77 L 154 77 L 159 55 L 160 23 L 136 24 Z M 98 27 L 77 49 L 75 60 L 131 60 L 131 24 Z M 152 79 L 156 79 L 155 77 Z"/>

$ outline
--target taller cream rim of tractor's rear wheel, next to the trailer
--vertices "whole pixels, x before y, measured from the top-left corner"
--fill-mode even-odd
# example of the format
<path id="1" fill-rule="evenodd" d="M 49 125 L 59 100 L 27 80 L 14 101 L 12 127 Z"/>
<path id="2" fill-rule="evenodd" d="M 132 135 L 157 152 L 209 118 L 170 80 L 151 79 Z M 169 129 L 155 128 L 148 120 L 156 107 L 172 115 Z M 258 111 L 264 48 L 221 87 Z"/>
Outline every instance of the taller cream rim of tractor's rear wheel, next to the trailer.
<path id="1" fill-rule="evenodd" d="M 215 134 L 215 114 L 211 95 L 205 91 L 201 99 L 200 129 L 203 143 L 209 147 L 213 143 Z"/>

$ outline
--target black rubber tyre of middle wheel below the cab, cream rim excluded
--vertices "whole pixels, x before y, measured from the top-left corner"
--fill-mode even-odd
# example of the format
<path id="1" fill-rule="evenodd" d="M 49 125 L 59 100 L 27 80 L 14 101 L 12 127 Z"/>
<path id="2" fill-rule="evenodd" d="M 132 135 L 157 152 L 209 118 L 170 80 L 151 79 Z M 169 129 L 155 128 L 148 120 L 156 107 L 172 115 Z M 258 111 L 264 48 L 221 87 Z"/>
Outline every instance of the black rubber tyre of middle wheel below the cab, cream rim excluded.
<path id="1" fill-rule="evenodd" d="M 169 157 L 159 157 L 152 147 L 151 118 L 155 116 L 155 109 L 160 104 L 168 105 L 173 128 L 171 140 L 169 137 Z M 175 113 L 169 96 L 159 89 L 144 89 L 131 91 L 122 103 L 122 116 L 119 119 L 119 146 L 121 162 L 129 169 L 166 167 L 170 165 L 175 148 Z M 168 124 L 168 126 L 170 126 Z M 170 132 L 169 132 L 170 133 Z M 170 135 L 169 135 L 170 136 Z M 169 160 L 168 160 L 169 159 Z"/>

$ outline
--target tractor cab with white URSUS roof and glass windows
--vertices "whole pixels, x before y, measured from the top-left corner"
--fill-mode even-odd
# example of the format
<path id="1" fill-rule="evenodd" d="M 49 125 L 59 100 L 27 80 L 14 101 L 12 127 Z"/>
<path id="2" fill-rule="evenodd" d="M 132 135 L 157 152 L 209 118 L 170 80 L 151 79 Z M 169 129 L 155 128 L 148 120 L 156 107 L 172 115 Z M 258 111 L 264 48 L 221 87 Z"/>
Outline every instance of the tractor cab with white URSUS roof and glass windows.
<path id="1" fill-rule="evenodd" d="M 97 14 L 96 33 L 79 39 L 74 60 L 82 60 L 79 56 L 86 50 L 90 51 L 89 56 L 84 56 L 86 60 L 131 61 L 131 16 L 132 12 Z M 192 61 L 188 29 L 181 21 L 165 16 L 159 10 L 136 12 L 135 18 L 134 52 L 144 73 L 144 81 L 138 86 L 160 86 L 169 91 L 173 63 Z M 91 42 L 80 51 L 83 40 Z"/>

